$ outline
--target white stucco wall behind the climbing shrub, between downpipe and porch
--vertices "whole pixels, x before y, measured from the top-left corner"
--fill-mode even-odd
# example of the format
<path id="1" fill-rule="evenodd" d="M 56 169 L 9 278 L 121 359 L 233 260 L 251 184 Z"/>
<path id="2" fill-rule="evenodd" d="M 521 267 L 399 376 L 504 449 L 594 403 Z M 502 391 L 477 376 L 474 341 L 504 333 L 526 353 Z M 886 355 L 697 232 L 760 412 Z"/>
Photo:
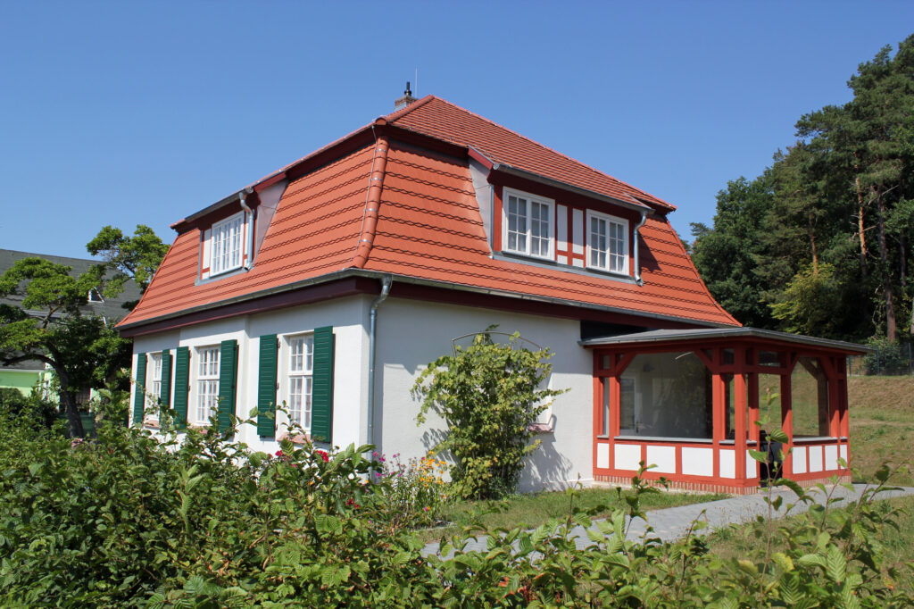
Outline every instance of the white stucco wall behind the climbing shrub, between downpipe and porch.
<path id="1" fill-rule="evenodd" d="M 520 489 L 562 488 L 579 478 L 590 484 L 593 364 L 590 351 L 578 345 L 579 322 L 570 319 L 388 298 L 377 314 L 379 450 L 388 455 L 399 453 L 403 460 L 428 453 L 444 424 L 432 416 L 417 427 L 420 402 L 411 398 L 409 390 L 422 369 L 451 352 L 452 338 L 493 324 L 498 331 L 519 331 L 522 337 L 555 352 L 550 387 L 570 389 L 553 403 L 554 432 L 537 436 L 542 445 L 529 459 Z"/>

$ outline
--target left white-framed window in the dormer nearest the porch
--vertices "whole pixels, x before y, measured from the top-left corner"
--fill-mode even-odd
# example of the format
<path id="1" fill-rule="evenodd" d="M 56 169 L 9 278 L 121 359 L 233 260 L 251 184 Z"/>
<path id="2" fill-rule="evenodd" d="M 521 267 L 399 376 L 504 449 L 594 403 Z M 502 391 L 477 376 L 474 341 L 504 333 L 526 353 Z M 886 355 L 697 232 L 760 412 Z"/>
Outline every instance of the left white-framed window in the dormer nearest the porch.
<path id="1" fill-rule="evenodd" d="M 502 198 L 502 249 L 512 253 L 555 257 L 555 201 L 505 188 Z"/>

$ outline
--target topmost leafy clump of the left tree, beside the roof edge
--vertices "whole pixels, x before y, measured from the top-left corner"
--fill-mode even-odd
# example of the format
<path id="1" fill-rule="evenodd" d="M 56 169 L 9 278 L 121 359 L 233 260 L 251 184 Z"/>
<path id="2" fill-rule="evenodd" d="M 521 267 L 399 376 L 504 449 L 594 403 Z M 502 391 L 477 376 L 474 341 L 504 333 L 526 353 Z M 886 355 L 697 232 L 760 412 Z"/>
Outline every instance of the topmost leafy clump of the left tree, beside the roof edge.
<path id="1" fill-rule="evenodd" d="M 86 250 L 93 256 L 101 254 L 105 267 L 114 271 L 104 295 L 116 296 L 121 294 L 124 283 L 130 279 L 133 279 L 141 293 L 145 292 L 165 258 L 168 246 L 154 230 L 144 224 L 137 224 L 133 237 L 124 236 L 121 229 L 104 227 L 86 244 Z M 124 303 L 123 306 L 133 309 L 136 303 Z"/>

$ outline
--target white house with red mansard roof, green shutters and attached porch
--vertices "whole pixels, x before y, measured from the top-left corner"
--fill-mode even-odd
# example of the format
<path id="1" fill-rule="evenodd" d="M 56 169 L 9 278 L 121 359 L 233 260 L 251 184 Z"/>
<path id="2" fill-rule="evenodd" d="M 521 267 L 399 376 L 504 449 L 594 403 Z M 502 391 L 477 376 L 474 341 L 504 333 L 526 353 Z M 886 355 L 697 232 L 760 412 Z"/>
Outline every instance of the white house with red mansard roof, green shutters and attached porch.
<path id="1" fill-rule="evenodd" d="M 676 486 L 749 492 L 769 415 L 786 474 L 847 478 L 844 362 L 862 347 L 740 326 L 666 201 L 433 95 L 398 105 L 173 225 L 119 325 L 134 422 L 154 428 L 157 400 L 223 426 L 285 402 L 315 442 L 420 456 L 442 428 L 416 424 L 420 369 L 498 325 L 550 347 L 569 389 L 523 489 L 625 482 L 646 461 Z M 260 416 L 239 440 L 273 451 L 287 425 Z"/>

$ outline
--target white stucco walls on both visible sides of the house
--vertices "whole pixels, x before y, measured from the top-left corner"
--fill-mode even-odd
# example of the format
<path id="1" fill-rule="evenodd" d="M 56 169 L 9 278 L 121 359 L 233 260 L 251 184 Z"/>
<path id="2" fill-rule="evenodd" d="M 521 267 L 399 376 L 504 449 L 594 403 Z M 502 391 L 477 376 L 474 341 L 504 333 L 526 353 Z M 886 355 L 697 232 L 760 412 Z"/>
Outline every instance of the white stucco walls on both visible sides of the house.
<path id="1" fill-rule="evenodd" d="M 247 417 L 257 404 L 260 336 L 299 334 L 320 326 L 334 326 L 334 428 L 333 442 L 356 445 L 367 440 L 368 313 L 373 298 L 357 296 L 315 305 L 302 305 L 264 313 L 190 326 L 181 330 L 137 337 L 133 352 L 161 351 L 175 347 L 204 347 L 234 339 L 239 344 L 239 381 L 236 412 Z M 552 433 L 537 436 L 542 445 L 528 460 L 521 476 L 521 490 L 564 488 L 577 480 L 592 481 L 592 359 L 580 347 L 579 322 L 538 315 L 517 315 L 461 305 L 442 305 L 390 297 L 377 312 L 377 384 L 375 438 L 380 452 L 399 453 L 405 461 L 428 453 L 436 443 L 443 422 L 434 414 L 416 424 L 420 402 L 410 389 L 420 371 L 431 361 L 450 353 L 452 338 L 498 325 L 499 331 L 519 331 L 522 337 L 549 347 L 553 389 L 569 389 L 551 407 Z M 174 359 L 173 359 L 174 362 Z M 191 362 L 193 368 L 194 362 Z M 133 358 L 134 371 L 136 357 Z M 282 374 L 282 357 L 280 360 Z M 174 373 L 172 378 L 174 379 Z M 193 380 L 193 372 L 191 374 Z M 193 383 L 192 383 L 193 384 Z M 282 394 L 277 395 L 282 401 Z M 191 388 L 188 411 L 195 408 Z M 131 401 L 133 412 L 133 401 Z M 191 413 L 191 421 L 193 414 Z M 280 420 L 282 425 L 282 420 Z M 251 450 L 268 453 L 278 448 L 263 441 L 254 425 L 243 425 L 239 441 Z"/>

